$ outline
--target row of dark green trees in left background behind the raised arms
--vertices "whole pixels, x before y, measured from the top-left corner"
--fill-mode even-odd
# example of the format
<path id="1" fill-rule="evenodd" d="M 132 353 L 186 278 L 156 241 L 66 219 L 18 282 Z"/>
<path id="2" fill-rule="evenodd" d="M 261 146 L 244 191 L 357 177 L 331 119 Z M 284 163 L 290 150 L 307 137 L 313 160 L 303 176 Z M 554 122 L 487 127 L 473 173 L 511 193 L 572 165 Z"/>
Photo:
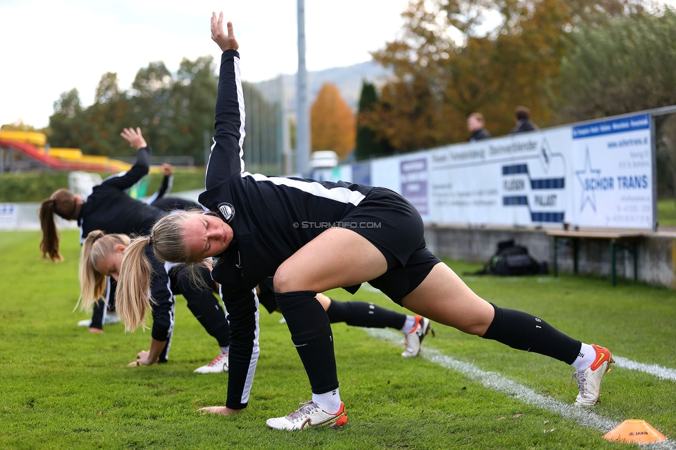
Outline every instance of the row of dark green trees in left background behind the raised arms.
<path id="1" fill-rule="evenodd" d="M 63 93 L 50 118 L 53 146 L 79 147 L 86 154 L 134 156 L 119 137 L 123 127 L 141 127 L 154 156 L 188 155 L 204 161 L 204 132 L 213 134 L 218 78 L 211 56 L 184 59 L 172 74 L 163 62 L 151 62 L 136 73 L 131 89 L 119 87 L 116 73 L 105 73 L 93 105 L 82 109 L 78 92 Z M 278 102 L 269 102 L 244 83 L 247 103 L 245 158 L 254 168 L 278 172 L 281 116 Z"/>

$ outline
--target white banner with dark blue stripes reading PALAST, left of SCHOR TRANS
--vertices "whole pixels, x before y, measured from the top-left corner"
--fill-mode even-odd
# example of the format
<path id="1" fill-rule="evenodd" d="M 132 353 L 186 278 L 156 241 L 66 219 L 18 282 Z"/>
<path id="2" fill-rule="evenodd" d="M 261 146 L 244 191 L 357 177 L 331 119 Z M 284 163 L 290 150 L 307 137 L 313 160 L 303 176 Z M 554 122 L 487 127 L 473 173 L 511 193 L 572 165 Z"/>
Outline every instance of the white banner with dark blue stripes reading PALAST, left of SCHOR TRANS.
<path id="1" fill-rule="evenodd" d="M 431 150 L 432 213 L 438 223 L 562 222 L 569 129 L 517 134 Z"/>

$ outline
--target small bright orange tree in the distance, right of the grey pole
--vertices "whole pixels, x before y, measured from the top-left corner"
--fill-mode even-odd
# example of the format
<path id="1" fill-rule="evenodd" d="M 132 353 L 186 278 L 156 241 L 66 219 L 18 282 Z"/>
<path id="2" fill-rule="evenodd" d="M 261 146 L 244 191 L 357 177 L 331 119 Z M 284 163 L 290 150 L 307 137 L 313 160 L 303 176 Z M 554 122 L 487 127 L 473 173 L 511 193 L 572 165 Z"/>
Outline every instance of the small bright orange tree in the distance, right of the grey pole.
<path id="1" fill-rule="evenodd" d="M 355 148 L 355 115 L 335 84 L 324 83 L 310 109 L 312 151 L 332 150 L 344 159 Z"/>

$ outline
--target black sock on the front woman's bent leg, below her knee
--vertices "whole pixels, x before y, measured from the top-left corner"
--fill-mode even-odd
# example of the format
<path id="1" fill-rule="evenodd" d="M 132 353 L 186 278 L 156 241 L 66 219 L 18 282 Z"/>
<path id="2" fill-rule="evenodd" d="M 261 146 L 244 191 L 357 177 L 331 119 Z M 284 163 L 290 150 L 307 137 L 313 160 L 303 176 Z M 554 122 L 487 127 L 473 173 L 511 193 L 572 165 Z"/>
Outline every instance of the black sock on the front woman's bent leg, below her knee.
<path id="1" fill-rule="evenodd" d="M 338 388 L 338 375 L 331 323 L 316 295 L 293 291 L 276 293 L 275 298 L 308 373 L 312 393 L 323 394 Z"/>

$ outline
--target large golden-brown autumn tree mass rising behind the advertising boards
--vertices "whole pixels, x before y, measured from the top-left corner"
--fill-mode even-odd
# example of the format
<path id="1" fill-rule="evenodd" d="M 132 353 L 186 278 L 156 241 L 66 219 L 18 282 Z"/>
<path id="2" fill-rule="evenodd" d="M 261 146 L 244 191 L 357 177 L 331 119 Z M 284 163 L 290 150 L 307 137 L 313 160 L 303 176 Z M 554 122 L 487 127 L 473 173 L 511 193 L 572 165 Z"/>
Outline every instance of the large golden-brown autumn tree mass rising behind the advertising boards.
<path id="1" fill-rule="evenodd" d="M 638 10 L 640 3 L 413 1 L 402 14 L 400 37 L 373 53 L 394 78 L 364 119 L 402 152 L 465 141 L 465 119 L 474 111 L 483 112 L 494 136 L 513 126 L 516 105 L 551 125 L 569 33 L 580 23 Z M 500 17 L 493 29 L 483 26 L 488 12 Z"/>

